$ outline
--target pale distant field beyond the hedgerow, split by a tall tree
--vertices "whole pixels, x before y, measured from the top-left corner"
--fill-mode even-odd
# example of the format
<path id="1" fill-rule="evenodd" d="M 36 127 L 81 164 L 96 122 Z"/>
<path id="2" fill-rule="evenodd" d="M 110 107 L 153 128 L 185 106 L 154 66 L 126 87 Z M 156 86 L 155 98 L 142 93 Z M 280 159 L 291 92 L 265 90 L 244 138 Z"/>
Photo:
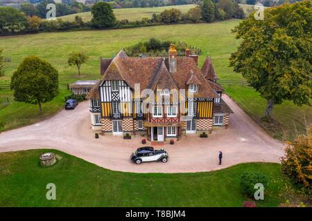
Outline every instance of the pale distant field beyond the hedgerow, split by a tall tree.
<path id="1" fill-rule="evenodd" d="M 143 18 L 150 19 L 153 13 L 160 14 L 160 12 L 166 9 L 177 8 L 181 12 L 187 12 L 194 7 L 196 7 L 196 5 L 164 6 L 154 8 L 117 8 L 114 9 L 114 15 L 117 20 L 128 19 L 129 21 L 139 21 Z M 91 12 L 81 12 L 78 14 L 64 15 L 58 17 L 58 19 L 62 19 L 63 21 L 73 21 L 76 15 L 82 17 L 83 21 L 91 21 L 92 19 Z"/>

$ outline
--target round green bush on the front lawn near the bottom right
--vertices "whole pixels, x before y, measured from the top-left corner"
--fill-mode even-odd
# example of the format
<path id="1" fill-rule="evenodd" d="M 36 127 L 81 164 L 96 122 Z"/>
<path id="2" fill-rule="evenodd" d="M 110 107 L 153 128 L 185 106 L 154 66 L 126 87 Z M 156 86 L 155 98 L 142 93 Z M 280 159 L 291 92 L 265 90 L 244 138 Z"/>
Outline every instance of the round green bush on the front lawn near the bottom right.
<path id="1" fill-rule="evenodd" d="M 241 175 L 241 187 L 243 188 L 244 193 L 248 196 L 254 196 L 254 192 L 256 191 L 256 189 L 254 189 L 254 185 L 257 183 L 263 184 L 264 188 L 266 188 L 268 185 L 266 175 L 254 171 L 245 172 Z"/>

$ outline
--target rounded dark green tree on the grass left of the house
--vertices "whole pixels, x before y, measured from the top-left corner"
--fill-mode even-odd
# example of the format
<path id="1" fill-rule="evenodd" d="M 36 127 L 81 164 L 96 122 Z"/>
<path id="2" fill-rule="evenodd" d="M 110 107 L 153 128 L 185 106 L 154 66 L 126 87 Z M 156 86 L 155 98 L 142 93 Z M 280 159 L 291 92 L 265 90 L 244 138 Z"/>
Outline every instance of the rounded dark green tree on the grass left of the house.
<path id="1" fill-rule="evenodd" d="M 26 57 L 11 78 L 11 88 L 17 102 L 38 104 L 50 102 L 58 95 L 58 70 L 36 56 Z"/>

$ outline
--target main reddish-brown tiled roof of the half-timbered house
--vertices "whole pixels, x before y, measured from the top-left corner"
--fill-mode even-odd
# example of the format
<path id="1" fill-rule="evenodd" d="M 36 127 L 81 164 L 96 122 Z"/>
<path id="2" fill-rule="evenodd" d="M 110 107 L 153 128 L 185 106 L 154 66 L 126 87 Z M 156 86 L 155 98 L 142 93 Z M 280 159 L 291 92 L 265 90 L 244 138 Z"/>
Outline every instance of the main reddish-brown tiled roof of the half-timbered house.
<path id="1" fill-rule="evenodd" d="M 140 84 L 140 90 L 177 87 L 185 89 L 186 92 L 187 82 L 196 81 L 199 85 L 194 97 L 218 97 L 216 90 L 205 79 L 193 58 L 177 57 L 177 71 L 169 73 L 168 70 L 168 57 L 128 57 L 121 50 L 110 62 L 102 81 L 123 80 L 130 88 L 135 88 L 135 84 Z M 192 72 L 193 77 L 190 76 Z"/>

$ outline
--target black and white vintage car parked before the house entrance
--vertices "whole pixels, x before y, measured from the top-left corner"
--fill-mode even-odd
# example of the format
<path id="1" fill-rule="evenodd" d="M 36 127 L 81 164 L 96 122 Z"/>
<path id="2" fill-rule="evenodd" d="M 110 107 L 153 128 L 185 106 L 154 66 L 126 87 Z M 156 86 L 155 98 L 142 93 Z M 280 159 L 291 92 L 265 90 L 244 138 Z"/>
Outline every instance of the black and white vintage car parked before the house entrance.
<path id="1" fill-rule="evenodd" d="M 168 157 L 168 153 L 164 148 L 161 150 L 154 150 L 152 146 L 144 146 L 133 152 L 130 156 L 130 160 L 136 164 L 151 161 L 162 161 L 165 163 L 168 161 Z"/>

